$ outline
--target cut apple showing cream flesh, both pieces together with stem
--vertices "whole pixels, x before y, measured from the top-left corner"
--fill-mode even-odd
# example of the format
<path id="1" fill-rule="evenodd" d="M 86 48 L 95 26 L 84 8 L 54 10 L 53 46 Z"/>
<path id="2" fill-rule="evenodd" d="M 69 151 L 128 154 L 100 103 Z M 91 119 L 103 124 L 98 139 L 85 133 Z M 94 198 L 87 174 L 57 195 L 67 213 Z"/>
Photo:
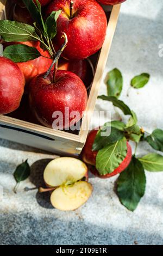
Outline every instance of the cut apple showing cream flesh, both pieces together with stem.
<path id="1" fill-rule="evenodd" d="M 48 163 L 43 179 L 49 189 L 40 188 L 40 192 L 50 191 L 54 208 L 62 211 L 76 210 L 89 199 L 92 185 L 87 181 L 87 166 L 73 157 L 59 157 Z"/>

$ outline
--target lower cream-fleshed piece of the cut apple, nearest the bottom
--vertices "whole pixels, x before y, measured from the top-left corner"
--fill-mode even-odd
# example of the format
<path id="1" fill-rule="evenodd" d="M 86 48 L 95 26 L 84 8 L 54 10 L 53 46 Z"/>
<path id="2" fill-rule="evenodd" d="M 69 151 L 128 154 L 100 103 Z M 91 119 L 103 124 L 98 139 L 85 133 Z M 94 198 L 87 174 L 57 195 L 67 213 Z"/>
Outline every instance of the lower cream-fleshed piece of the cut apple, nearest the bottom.
<path id="1" fill-rule="evenodd" d="M 51 203 L 61 211 L 72 211 L 82 206 L 91 196 L 92 185 L 78 181 L 70 186 L 60 186 L 51 194 Z"/>

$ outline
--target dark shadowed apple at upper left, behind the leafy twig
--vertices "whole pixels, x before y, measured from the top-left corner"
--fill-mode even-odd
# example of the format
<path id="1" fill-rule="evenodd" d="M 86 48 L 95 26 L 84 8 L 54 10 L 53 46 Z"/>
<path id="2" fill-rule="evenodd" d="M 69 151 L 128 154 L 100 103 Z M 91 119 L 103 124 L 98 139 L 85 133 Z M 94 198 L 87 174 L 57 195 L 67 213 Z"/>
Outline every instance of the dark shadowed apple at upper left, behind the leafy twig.
<path id="1" fill-rule="evenodd" d="M 32 17 L 29 14 L 29 11 L 27 10 L 27 8 L 21 7 L 18 4 L 16 4 L 14 6 L 12 19 L 14 21 L 19 21 L 19 22 L 26 23 L 29 25 L 33 25 L 33 22 L 34 22 Z"/>

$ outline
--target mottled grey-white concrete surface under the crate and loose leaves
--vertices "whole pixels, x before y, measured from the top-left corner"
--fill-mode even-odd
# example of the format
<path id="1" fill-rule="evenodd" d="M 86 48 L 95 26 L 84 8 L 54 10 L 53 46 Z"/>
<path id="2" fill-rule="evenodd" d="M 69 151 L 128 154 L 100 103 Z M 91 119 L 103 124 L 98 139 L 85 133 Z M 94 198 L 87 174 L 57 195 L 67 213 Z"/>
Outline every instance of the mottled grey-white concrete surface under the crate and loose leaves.
<path id="1" fill-rule="evenodd" d="M 146 130 L 163 129 L 163 43 L 162 0 L 128 0 L 122 5 L 117 31 L 105 69 L 119 68 L 124 75 L 121 99 L 135 110 L 139 123 Z M 130 79 L 149 72 L 147 87 L 131 90 L 126 96 Z M 105 93 L 105 85 L 101 92 Z M 96 109 L 111 109 L 109 103 L 97 101 Z M 138 153 L 151 151 L 142 144 Z M 117 177 L 101 180 L 90 178 L 94 191 L 89 202 L 72 212 L 55 210 L 48 194 L 24 191 L 42 184 L 42 172 L 52 154 L 24 145 L 0 140 L 0 201 L 1 245 L 161 245 L 163 243 L 163 173 L 146 173 L 146 194 L 135 212 L 124 208 L 114 193 Z M 22 182 L 17 194 L 12 192 L 12 173 L 17 164 L 29 159 L 30 179 Z"/>

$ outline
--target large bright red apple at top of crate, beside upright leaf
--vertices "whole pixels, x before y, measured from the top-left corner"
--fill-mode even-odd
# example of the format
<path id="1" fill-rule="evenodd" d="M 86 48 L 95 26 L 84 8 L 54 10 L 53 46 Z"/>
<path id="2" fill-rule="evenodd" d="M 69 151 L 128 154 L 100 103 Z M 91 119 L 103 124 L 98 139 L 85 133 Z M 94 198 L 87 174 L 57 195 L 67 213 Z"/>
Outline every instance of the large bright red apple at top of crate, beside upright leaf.
<path id="1" fill-rule="evenodd" d="M 63 44 L 62 32 L 68 44 L 62 53 L 66 59 L 85 59 L 96 53 L 103 45 L 107 20 L 103 8 L 95 0 L 74 0 L 73 14 L 70 19 L 71 0 L 53 0 L 45 10 L 47 17 L 52 11 L 61 9 L 57 21 L 57 36 L 54 47 L 58 50 Z"/>

